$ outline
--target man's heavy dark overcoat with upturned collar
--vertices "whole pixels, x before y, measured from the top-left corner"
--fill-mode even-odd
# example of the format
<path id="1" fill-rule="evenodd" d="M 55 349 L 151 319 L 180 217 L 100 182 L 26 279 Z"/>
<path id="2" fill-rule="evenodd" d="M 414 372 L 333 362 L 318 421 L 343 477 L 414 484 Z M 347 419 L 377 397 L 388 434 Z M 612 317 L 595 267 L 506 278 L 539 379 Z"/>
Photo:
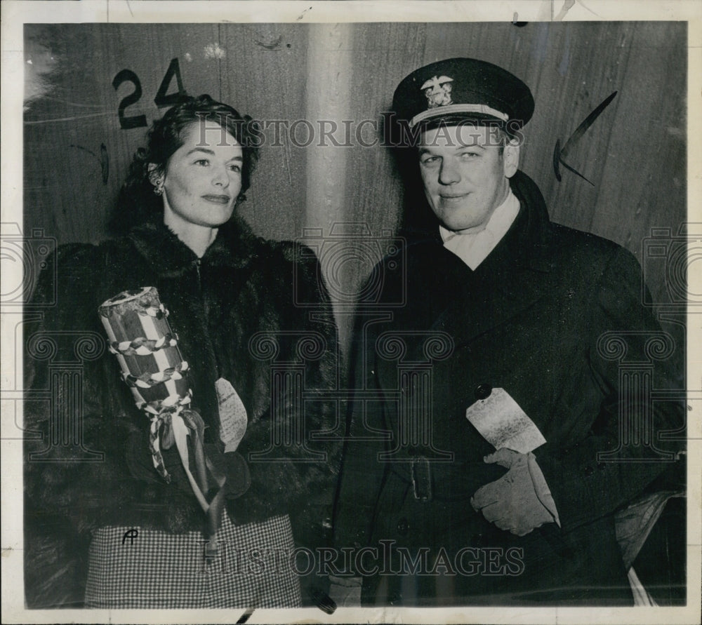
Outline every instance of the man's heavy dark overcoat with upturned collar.
<path id="1" fill-rule="evenodd" d="M 647 389 L 684 388 L 682 346 L 642 305 L 633 255 L 551 223 L 522 172 L 510 184 L 519 214 L 475 271 L 435 228 L 359 304 L 334 523 L 338 546 L 370 548 L 349 560 L 366 604 L 632 603 L 613 513 L 676 459 L 682 403 Z M 470 505 L 505 469 L 465 411 L 498 388 L 547 441 L 561 527 L 517 537 Z"/>

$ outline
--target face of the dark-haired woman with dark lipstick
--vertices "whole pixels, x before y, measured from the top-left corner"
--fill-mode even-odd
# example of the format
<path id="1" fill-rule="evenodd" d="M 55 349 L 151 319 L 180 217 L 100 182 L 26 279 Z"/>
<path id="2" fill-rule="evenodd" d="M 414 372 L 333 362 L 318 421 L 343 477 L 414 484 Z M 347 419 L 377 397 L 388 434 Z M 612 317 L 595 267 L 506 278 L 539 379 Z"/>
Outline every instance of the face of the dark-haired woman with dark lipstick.
<path id="1" fill-rule="evenodd" d="M 173 220 L 216 228 L 229 221 L 241 191 L 244 153 L 218 124 L 193 122 L 168 159 L 164 210 Z"/>

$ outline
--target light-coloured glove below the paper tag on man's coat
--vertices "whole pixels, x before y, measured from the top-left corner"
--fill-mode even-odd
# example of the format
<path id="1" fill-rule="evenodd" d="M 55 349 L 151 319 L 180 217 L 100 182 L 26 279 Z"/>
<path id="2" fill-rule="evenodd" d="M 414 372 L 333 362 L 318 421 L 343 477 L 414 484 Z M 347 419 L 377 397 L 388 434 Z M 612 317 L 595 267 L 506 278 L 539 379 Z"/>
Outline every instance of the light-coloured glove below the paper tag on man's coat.
<path id="1" fill-rule="evenodd" d="M 484 462 L 500 464 L 509 471 L 475 491 L 470 499 L 475 511 L 517 536 L 527 535 L 544 523 L 558 523 L 555 503 L 533 454 L 503 448 L 484 457 Z"/>

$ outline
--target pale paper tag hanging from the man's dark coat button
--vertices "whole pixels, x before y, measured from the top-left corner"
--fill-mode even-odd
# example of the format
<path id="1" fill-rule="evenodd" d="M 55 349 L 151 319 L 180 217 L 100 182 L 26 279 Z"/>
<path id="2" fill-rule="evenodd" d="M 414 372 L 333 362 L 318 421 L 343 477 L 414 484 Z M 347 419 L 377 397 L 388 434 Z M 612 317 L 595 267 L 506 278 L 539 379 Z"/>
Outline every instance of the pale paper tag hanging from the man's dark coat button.
<path id="1" fill-rule="evenodd" d="M 489 396 L 468 407 L 465 417 L 496 449 L 526 454 L 546 442 L 536 424 L 505 389 L 492 389 Z"/>

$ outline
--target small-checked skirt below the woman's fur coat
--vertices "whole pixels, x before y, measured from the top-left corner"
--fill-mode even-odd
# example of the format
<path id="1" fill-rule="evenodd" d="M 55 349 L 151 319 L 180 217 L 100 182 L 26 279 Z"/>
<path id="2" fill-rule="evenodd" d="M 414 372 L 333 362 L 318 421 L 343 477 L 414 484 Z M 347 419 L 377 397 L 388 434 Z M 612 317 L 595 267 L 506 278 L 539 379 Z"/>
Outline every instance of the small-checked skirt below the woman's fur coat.
<path id="1" fill-rule="evenodd" d="M 86 607 L 300 606 L 287 515 L 234 525 L 225 513 L 217 536 L 218 555 L 206 560 L 206 539 L 200 532 L 174 535 L 123 526 L 96 530 Z"/>

